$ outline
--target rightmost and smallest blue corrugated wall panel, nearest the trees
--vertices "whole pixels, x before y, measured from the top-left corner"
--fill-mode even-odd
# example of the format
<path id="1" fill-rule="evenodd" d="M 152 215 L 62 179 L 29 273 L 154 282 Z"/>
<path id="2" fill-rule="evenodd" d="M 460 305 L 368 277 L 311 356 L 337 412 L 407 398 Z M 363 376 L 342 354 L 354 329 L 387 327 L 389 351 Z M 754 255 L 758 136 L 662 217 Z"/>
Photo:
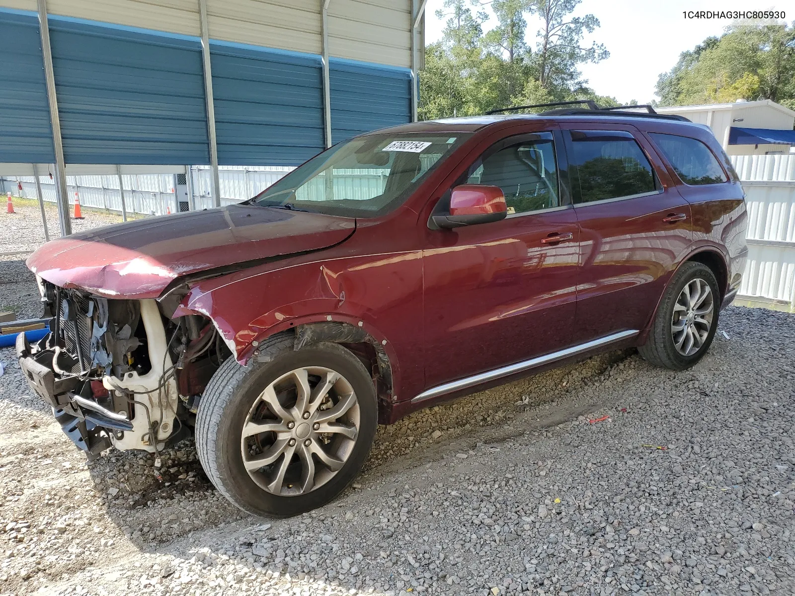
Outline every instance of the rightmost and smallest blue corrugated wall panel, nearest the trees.
<path id="1" fill-rule="evenodd" d="M 331 58 L 332 140 L 411 122 L 411 71 Z"/>

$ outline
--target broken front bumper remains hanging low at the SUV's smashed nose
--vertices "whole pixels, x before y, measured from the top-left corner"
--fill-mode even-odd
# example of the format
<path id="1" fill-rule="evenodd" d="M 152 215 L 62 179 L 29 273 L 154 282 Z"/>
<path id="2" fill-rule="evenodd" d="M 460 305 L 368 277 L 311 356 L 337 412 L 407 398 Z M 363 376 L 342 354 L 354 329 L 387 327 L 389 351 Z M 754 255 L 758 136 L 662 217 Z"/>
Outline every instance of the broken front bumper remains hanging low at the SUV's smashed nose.
<path id="1" fill-rule="evenodd" d="M 39 346 L 45 346 L 48 336 Z M 126 418 L 104 408 L 96 401 L 80 395 L 87 381 L 78 375 L 61 377 L 52 366 L 54 351 L 40 349 L 33 353 L 25 334 L 17 336 L 17 359 L 30 388 L 52 407 L 52 412 L 64 433 L 72 442 L 94 459 L 111 447 L 109 432 L 131 431 L 133 424 Z"/>

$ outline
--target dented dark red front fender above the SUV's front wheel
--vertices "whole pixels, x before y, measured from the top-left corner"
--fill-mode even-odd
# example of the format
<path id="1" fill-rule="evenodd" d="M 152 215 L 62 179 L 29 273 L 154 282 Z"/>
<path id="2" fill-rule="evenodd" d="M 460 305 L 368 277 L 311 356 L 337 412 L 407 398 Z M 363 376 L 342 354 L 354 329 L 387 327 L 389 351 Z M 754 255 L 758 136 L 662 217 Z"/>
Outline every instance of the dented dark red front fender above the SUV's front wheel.
<path id="1" fill-rule="evenodd" d="M 271 263 L 196 282 L 173 316 L 211 319 L 238 362 L 264 339 L 306 323 L 362 327 L 382 346 L 395 392 L 423 382 L 419 251 L 282 265 Z M 416 324 L 406 325 L 406 321 Z"/>

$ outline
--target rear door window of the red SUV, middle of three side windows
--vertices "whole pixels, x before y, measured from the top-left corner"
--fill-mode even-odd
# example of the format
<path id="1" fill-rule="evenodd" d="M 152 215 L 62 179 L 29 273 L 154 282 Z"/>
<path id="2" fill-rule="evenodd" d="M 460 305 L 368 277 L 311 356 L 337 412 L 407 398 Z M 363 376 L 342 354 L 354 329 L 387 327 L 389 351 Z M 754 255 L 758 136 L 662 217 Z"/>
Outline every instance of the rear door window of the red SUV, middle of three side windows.
<path id="1" fill-rule="evenodd" d="M 569 162 L 577 203 L 657 192 L 654 171 L 638 141 L 624 130 L 572 130 Z"/>

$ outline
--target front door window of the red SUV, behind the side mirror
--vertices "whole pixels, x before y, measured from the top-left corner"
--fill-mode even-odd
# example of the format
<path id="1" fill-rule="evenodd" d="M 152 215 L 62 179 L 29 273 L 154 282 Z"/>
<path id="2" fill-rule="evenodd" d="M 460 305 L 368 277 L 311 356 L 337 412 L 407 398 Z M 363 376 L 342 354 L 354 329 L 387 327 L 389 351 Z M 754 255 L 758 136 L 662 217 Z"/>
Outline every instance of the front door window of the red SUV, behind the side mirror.
<path id="1" fill-rule="evenodd" d="M 533 137 L 484 157 L 467 178 L 467 184 L 502 188 L 508 215 L 560 205 L 552 134 Z"/>

